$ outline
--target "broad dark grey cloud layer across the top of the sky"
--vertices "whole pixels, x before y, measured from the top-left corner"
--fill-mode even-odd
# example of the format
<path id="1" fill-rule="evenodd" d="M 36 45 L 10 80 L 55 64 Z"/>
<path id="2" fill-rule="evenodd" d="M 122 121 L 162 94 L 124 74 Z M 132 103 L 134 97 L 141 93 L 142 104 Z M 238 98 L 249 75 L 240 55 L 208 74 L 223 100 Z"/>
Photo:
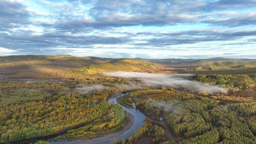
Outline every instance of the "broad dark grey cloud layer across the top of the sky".
<path id="1" fill-rule="evenodd" d="M 240 26 L 255 23 L 255 13 L 252 11 L 230 15 L 231 13 L 228 14 L 225 11 L 230 8 L 234 10 L 255 8 L 256 2 L 254 0 L 173 0 L 171 2 L 164 0 L 98 0 L 34 3 L 38 7 L 44 8 L 44 11 L 30 8 L 29 2 L 26 4 L 3 0 L 0 4 L 0 15 L 3 20 L 15 24 L 28 24 L 35 21 L 33 19 L 38 19 L 38 16 L 54 19 L 54 22 L 37 20 L 36 24 L 48 25 L 64 31 L 81 31 L 88 27 L 158 26 L 196 22 Z M 230 16 L 232 17 L 230 18 Z M 230 23 L 230 21 L 233 22 Z"/>

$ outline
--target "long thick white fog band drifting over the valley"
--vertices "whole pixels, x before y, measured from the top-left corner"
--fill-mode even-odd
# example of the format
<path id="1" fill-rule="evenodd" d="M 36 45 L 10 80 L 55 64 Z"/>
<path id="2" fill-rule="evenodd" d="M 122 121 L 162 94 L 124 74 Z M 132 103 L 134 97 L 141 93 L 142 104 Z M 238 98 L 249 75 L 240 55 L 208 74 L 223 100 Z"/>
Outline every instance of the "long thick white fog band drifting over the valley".
<path id="1" fill-rule="evenodd" d="M 140 72 L 111 72 L 103 73 L 106 76 L 112 77 L 125 77 L 125 78 L 138 78 L 142 84 L 150 86 L 164 86 L 170 88 L 182 88 L 186 90 L 201 91 L 208 93 L 226 93 L 224 88 L 218 86 L 206 85 L 193 80 L 189 80 L 192 74 L 152 74 Z"/>

